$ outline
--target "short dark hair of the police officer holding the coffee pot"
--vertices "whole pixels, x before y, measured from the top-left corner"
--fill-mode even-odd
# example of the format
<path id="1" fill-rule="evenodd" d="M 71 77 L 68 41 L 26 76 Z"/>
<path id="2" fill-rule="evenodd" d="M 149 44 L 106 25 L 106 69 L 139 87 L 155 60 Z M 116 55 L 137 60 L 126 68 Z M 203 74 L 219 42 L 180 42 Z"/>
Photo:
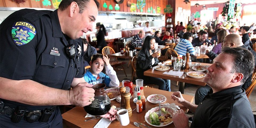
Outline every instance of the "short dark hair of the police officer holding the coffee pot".
<path id="1" fill-rule="evenodd" d="M 97 8 L 99 9 L 99 2 L 98 0 L 93 0 Z M 83 13 L 83 10 L 88 6 L 90 0 L 62 0 L 59 4 L 59 10 L 64 11 L 72 2 L 76 2 L 79 7 L 79 13 Z"/>

